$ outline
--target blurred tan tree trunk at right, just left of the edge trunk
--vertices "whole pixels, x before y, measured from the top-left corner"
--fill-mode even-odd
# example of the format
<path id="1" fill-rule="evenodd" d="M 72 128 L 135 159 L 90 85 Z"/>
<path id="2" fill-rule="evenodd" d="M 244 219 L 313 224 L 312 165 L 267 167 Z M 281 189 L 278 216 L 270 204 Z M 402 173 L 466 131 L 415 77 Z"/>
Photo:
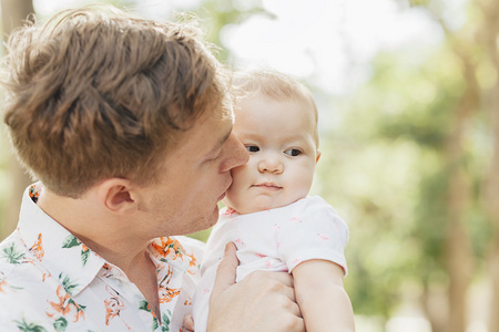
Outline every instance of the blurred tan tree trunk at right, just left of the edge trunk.
<path id="1" fill-rule="evenodd" d="M 471 237 L 466 227 L 466 211 L 470 201 L 469 176 L 464 168 L 466 124 L 479 110 L 479 86 L 476 65 L 470 48 L 455 44 L 455 52 L 461 59 L 466 90 L 457 105 L 452 133 L 447 139 L 445 158 L 449 172 L 447 193 L 447 237 L 445 243 L 446 264 L 449 274 L 449 317 L 447 331 L 465 332 L 468 324 L 468 289 L 473 270 Z"/>

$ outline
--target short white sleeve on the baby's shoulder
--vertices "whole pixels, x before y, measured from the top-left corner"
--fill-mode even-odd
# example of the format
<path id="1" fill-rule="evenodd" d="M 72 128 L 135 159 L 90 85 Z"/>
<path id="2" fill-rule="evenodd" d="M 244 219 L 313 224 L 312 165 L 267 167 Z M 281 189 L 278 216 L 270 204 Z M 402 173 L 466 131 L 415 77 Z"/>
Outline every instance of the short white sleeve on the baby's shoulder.
<path id="1" fill-rule="evenodd" d="M 347 274 L 348 227 L 324 199 L 306 198 L 278 227 L 278 253 L 289 272 L 303 261 L 323 259 L 337 263 Z"/>

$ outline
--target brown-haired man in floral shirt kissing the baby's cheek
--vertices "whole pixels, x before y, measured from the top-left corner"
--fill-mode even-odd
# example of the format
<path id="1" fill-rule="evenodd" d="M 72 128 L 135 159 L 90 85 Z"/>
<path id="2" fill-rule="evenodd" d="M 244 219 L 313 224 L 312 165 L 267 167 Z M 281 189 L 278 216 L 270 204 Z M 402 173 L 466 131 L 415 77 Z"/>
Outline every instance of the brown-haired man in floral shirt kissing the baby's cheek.
<path id="1" fill-rule="evenodd" d="M 40 179 L 0 245 L 2 331 L 179 331 L 231 169 L 226 80 L 195 28 L 113 8 L 60 13 L 8 44 L 4 121 Z M 303 331 L 284 273 L 234 284 L 228 245 L 208 331 Z"/>

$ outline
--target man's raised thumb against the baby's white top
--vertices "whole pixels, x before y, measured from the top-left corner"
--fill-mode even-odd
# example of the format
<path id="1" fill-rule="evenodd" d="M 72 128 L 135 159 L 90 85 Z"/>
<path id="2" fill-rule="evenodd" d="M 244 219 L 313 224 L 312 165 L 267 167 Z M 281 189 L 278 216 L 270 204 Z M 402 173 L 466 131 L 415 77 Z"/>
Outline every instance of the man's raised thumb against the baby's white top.
<path id="1" fill-rule="evenodd" d="M 236 268 L 240 264 L 236 250 L 237 249 L 233 242 L 225 245 L 224 257 L 222 258 L 216 270 L 215 284 L 213 287 L 211 301 L 235 283 Z"/>

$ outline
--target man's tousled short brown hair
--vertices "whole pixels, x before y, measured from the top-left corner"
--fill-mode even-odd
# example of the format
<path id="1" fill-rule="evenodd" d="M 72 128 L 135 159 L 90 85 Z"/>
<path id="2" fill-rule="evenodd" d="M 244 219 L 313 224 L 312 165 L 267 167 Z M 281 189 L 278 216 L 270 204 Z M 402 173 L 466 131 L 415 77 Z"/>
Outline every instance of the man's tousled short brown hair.
<path id="1" fill-rule="evenodd" d="M 13 32 L 7 48 L 12 145 L 62 196 L 110 177 L 154 181 L 179 134 L 226 102 L 222 68 L 192 23 L 88 7 Z"/>

